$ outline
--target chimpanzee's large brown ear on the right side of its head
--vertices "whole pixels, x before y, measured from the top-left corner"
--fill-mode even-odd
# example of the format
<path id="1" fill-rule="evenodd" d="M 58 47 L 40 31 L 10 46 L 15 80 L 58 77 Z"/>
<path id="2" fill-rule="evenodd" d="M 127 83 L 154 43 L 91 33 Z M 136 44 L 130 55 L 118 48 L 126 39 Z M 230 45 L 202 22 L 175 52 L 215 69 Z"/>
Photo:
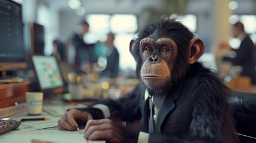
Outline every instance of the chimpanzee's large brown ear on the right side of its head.
<path id="1" fill-rule="evenodd" d="M 193 38 L 189 45 L 189 64 L 196 63 L 205 52 L 205 43 L 200 38 Z"/>

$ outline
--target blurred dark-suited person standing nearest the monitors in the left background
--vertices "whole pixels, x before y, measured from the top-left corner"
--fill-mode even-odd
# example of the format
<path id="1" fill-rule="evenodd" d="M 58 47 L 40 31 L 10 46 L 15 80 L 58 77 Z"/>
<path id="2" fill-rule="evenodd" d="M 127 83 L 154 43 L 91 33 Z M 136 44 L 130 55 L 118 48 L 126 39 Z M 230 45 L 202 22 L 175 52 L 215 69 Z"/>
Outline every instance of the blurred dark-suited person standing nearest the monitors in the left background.
<path id="1" fill-rule="evenodd" d="M 82 64 L 92 64 L 93 58 L 93 46 L 94 44 L 88 44 L 84 41 L 84 35 L 89 31 L 89 23 L 87 21 L 82 21 L 79 24 L 78 30 L 74 33 L 72 37 L 72 44 L 75 46 L 75 66 L 80 67 Z"/>

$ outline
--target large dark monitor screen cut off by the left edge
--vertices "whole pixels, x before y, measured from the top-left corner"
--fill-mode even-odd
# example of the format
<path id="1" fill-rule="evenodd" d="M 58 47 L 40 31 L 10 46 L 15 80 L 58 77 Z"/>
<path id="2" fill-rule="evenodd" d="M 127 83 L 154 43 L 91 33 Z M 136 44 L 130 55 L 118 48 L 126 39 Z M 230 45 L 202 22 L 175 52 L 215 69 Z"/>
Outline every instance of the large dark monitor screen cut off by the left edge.
<path id="1" fill-rule="evenodd" d="M 0 71 L 26 69 L 21 5 L 0 0 Z"/>

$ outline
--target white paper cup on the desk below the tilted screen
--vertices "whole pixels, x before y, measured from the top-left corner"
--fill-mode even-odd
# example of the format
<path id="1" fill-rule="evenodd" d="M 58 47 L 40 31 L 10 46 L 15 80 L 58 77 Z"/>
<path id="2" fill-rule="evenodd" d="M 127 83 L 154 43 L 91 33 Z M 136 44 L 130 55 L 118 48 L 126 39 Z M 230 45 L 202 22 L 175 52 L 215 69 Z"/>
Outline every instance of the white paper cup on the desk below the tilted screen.
<path id="1" fill-rule="evenodd" d="M 43 92 L 26 92 L 27 113 L 29 115 L 42 114 Z"/>

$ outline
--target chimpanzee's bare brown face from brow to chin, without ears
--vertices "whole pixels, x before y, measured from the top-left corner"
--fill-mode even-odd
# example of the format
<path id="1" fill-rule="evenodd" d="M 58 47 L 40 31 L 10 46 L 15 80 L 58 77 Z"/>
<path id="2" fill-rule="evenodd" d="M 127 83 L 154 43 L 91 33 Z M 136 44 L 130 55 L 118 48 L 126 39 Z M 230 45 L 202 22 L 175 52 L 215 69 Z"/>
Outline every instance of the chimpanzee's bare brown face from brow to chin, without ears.
<path id="1" fill-rule="evenodd" d="M 171 80 L 177 45 L 169 38 L 144 38 L 140 41 L 140 55 L 143 61 L 141 79 L 152 88 L 162 88 Z"/>

